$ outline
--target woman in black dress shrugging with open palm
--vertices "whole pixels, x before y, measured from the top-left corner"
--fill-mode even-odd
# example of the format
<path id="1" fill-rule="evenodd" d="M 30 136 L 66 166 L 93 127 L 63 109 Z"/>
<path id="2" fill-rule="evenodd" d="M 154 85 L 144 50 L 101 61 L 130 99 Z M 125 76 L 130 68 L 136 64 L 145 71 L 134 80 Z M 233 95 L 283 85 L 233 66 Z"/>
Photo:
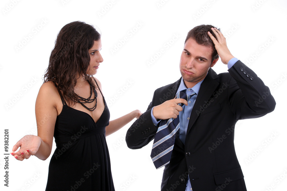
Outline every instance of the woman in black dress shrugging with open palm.
<path id="1" fill-rule="evenodd" d="M 46 160 L 55 137 L 46 190 L 115 190 L 105 136 L 141 112 L 109 121 L 101 83 L 92 76 L 103 62 L 101 47 L 89 24 L 75 21 L 61 29 L 36 99 L 38 136 L 26 135 L 12 149 L 20 161 L 31 155 Z"/>

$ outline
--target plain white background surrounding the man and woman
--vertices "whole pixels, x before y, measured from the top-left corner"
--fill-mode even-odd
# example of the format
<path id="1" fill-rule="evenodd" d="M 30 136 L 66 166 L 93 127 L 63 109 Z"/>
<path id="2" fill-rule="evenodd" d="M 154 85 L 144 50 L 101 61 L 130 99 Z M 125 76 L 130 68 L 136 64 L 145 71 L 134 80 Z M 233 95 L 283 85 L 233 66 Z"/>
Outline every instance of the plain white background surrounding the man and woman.
<path id="1" fill-rule="evenodd" d="M 230 52 L 269 86 L 277 103 L 274 112 L 236 125 L 234 142 L 247 190 L 286 189 L 286 1 L 2 0 L 0 8 L 1 190 L 45 189 L 51 156 L 20 162 L 10 155 L 9 187 L 4 186 L 4 129 L 9 129 L 9 151 L 24 135 L 37 134 L 34 104 L 42 75 L 57 33 L 77 20 L 102 32 L 104 62 L 95 77 L 102 83 L 111 119 L 134 109 L 146 111 L 156 88 L 180 78 L 179 58 L 190 29 L 220 27 Z M 115 46 L 120 48 L 112 54 Z M 157 56 L 160 49 L 164 53 Z M 220 60 L 213 69 L 227 72 Z M 150 159 L 152 143 L 127 148 L 124 139 L 131 123 L 107 137 L 115 190 L 160 190 L 162 169 L 155 170 Z M 256 153 L 259 147 L 263 150 Z"/>

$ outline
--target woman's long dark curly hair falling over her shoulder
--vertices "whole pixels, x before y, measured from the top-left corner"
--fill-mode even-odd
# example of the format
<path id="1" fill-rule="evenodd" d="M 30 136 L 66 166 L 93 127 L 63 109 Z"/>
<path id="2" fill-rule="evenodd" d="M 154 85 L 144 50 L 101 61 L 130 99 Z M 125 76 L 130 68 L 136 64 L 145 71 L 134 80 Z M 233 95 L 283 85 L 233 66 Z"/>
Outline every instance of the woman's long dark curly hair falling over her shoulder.
<path id="1" fill-rule="evenodd" d="M 44 82 L 54 82 L 61 98 L 67 101 L 69 106 L 78 101 L 74 87 L 79 76 L 83 76 L 96 88 L 93 77 L 86 72 L 90 67 L 88 50 L 94 46 L 94 41 L 100 38 L 101 35 L 94 26 L 81 21 L 68 23 L 57 36 L 49 66 L 44 74 Z"/>

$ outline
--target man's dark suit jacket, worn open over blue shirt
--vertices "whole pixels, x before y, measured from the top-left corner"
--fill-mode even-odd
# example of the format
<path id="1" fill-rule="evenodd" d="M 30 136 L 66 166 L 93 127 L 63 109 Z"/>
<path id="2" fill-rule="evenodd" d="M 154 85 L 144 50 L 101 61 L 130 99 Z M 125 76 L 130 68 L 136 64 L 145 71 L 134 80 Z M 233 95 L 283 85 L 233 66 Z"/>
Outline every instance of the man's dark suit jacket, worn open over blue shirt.
<path id="1" fill-rule="evenodd" d="M 180 82 L 155 90 L 148 110 L 127 131 L 129 148 L 139 149 L 154 139 L 158 126 L 151 108 L 173 99 Z M 185 190 L 188 175 L 193 191 L 246 190 L 234 149 L 235 123 L 266 115 L 275 105 L 269 88 L 240 60 L 226 73 L 217 75 L 210 68 L 190 115 L 185 145 L 179 137 L 175 140 L 161 190 Z"/>

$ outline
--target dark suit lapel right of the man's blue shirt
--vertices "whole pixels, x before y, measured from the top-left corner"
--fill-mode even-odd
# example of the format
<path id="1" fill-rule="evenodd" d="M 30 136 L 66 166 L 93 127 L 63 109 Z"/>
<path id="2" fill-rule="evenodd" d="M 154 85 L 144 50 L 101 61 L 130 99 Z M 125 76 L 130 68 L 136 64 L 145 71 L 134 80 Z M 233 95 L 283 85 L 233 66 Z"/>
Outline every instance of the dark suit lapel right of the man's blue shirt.
<path id="1" fill-rule="evenodd" d="M 216 74 L 216 72 L 214 72 L 214 70 L 210 68 L 207 76 L 205 77 L 200 86 L 195 104 L 191 111 L 190 120 L 187 126 L 187 133 L 190 131 L 197 117 L 200 115 L 200 111 L 202 111 L 201 108 L 205 106 L 205 104 L 212 96 L 214 90 L 219 85 L 219 82 L 215 81 L 216 78 L 218 78 L 218 75 Z"/>

